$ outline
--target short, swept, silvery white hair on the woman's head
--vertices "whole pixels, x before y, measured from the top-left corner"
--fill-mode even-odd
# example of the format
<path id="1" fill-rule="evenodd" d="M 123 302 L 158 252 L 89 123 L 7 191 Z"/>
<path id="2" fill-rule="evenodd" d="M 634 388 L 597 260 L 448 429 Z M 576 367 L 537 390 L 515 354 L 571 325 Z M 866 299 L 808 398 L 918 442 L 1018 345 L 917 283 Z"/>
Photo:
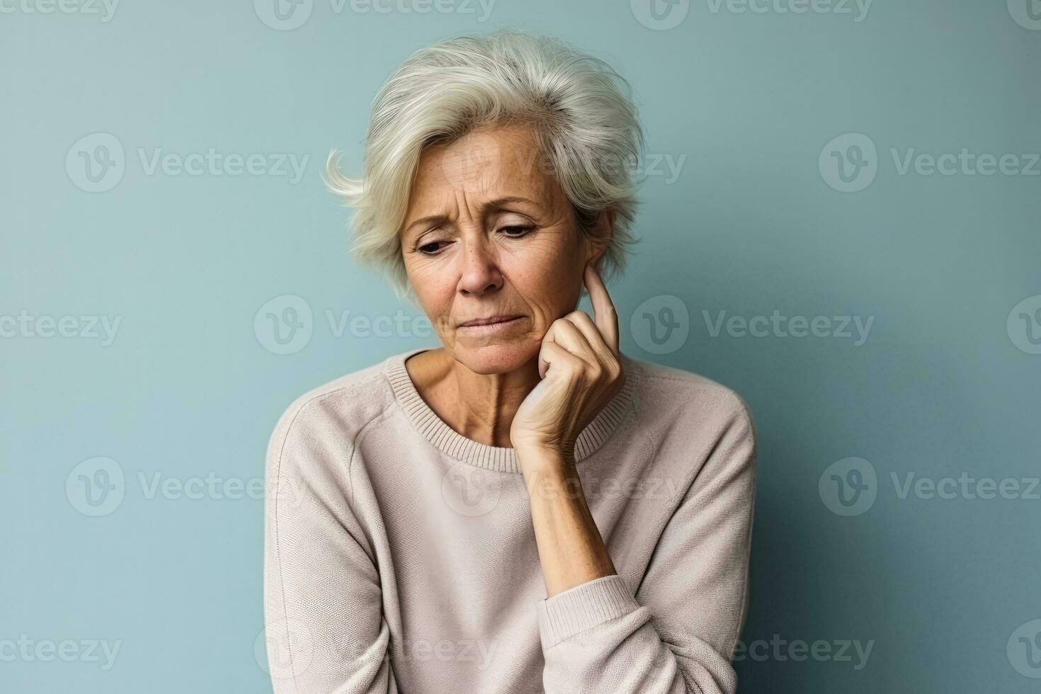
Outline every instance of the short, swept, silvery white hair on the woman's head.
<path id="1" fill-rule="evenodd" d="M 362 178 L 341 174 L 330 153 L 326 184 L 353 208 L 355 259 L 384 268 L 398 295 L 414 299 L 400 231 L 424 148 L 517 123 L 533 127 L 580 231 L 613 210 L 599 269 L 605 280 L 624 269 L 638 204 L 632 166 L 643 150 L 632 89 L 605 61 L 515 30 L 457 36 L 405 60 L 373 103 Z"/>

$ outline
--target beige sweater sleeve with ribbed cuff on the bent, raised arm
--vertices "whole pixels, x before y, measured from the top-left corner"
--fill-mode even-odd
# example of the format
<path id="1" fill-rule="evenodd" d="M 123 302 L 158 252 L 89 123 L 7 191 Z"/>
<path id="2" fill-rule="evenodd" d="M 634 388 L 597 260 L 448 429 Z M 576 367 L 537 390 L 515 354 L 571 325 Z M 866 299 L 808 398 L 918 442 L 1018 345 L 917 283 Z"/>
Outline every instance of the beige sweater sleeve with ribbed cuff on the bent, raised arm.
<path id="1" fill-rule="evenodd" d="M 747 607 L 756 441 L 736 401 L 634 595 L 618 575 L 537 603 L 547 694 L 734 694 Z"/>

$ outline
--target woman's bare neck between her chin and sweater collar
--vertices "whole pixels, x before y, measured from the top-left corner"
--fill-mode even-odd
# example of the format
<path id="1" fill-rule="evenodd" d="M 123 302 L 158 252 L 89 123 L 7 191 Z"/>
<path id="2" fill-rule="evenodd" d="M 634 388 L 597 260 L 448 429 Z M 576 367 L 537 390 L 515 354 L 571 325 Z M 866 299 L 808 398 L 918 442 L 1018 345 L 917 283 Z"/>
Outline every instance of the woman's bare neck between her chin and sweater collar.
<path id="1" fill-rule="evenodd" d="M 510 425 L 539 382 L 538 357 L 506 374 L 476 374 L 445 350 L 405 362 L 416 391 L 445 423 L 484 445 L 512 447 Z"/>

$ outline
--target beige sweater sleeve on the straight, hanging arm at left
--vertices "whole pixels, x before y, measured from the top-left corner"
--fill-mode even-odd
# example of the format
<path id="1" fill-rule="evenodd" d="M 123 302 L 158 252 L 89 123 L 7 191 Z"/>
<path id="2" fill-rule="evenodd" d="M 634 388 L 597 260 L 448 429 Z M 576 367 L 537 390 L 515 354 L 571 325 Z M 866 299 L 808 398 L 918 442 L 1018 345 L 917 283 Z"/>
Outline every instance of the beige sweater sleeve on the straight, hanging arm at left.
<path id="1" fill-rule="evenodd" d="M 376 558 L 354 510 L 351 441 L 283 415 L 268 449 L 264 621 L 275 694 L 396 694 Z"/>

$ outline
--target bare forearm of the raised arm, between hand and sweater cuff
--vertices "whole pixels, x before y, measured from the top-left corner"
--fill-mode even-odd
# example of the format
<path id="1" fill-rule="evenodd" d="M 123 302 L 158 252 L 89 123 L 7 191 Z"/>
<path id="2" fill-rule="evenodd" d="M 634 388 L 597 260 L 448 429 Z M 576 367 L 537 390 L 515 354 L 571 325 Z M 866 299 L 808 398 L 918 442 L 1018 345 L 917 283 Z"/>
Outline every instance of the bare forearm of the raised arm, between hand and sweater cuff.
<path id="1" fill-rule="evenodd" d="M 574 461 L 553 449 L 518 452 L 547 597 L 616 573 Z"/>

